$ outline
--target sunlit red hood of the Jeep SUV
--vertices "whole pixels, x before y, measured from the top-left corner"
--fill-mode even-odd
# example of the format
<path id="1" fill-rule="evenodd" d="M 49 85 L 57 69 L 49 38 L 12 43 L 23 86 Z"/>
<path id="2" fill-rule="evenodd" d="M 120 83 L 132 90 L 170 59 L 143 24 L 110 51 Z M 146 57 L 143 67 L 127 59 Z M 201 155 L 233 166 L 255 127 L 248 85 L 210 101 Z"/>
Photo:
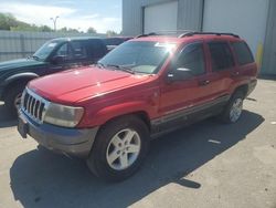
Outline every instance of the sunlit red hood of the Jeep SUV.
<path id="1" fill-rule="evenodd" d="M 36 79 L 28 87 L 49 101 L 70 104 L 138 84 L 149 77 L 91 66 Z"/>

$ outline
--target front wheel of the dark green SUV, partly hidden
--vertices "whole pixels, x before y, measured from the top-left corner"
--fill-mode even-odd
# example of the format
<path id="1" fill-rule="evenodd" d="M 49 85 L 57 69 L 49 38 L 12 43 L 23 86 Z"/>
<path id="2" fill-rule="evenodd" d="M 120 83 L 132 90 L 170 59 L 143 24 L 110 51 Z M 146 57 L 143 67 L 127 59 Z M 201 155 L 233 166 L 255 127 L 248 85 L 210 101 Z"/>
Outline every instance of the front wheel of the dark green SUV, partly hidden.
<path id="1" fill-rule="evenodd" d="M 7 92 L 7 95 L 4 97 L 4 107 L 12 116 L 18 115 L 18 107 L 20 105 L 20 98 L 22 92 L 24 91 L 24 87 L 25 85 L 19 84 Z"/>

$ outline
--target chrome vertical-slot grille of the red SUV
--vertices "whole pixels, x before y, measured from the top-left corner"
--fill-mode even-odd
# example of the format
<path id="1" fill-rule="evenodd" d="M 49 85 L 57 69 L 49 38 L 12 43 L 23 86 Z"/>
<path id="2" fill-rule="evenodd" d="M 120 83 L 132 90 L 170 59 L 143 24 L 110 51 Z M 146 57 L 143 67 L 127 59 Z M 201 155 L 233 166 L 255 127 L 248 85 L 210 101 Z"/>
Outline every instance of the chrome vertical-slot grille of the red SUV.
<path id="1" fill-rule="evenodd" d="M 25 89 L 22 95 L 21 110 L 38 123 L 43 123 L 49 102 Z"/>

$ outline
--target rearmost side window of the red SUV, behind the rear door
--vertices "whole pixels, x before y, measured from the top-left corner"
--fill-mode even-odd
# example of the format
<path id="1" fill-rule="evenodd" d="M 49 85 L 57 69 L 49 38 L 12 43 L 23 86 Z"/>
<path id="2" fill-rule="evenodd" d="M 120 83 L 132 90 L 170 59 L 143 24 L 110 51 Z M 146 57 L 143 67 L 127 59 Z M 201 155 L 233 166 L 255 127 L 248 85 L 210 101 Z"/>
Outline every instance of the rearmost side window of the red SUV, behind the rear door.
<path id="1" fill-rule="evenodd" d="M 232 45 L 234 52 L 236 53 L 237 62 L 240 65 L 245 65 L 254 62 L 251 50 L 245 42 L 234 42 L 232 43 Z"/>

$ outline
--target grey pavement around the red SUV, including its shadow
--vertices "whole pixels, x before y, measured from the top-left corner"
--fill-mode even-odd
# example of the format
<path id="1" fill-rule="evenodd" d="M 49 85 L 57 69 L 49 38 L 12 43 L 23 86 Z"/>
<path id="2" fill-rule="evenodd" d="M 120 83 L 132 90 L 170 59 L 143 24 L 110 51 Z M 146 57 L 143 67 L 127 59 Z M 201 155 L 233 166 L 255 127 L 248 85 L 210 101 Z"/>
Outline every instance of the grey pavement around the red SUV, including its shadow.
<path id="1" fill-rule="evenodd" d="M 276 208 L 276 82 L 258 82 L 237 124 L 208 119 L 152 142 L 138 174 L 106 184 L 79 159 L 21 139 L 0 104 L 0 208 Z"/>

